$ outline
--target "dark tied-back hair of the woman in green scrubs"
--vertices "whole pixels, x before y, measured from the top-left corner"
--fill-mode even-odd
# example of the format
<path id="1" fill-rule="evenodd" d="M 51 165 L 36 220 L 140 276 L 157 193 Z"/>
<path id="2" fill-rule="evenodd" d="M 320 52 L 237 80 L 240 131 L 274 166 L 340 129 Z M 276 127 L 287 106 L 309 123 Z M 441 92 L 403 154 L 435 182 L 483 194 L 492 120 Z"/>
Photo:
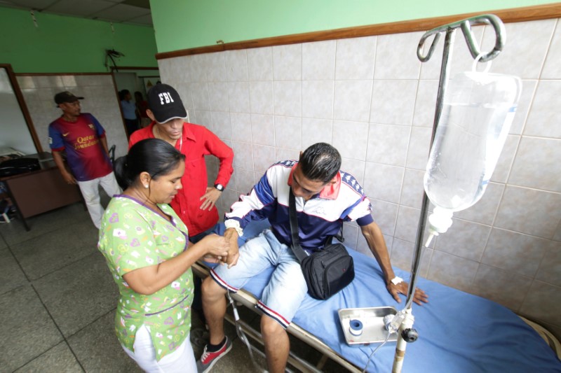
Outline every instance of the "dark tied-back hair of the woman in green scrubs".
<path id="1" fill-rule="evenodd" d="M 137 182 L 142 172 L 157 179 L 175 169 L 182 160 L 185 160 L 185 155 L 170 143 L 160 139 L 144 139 L 135 143 L 128 150 L 128 155 L 119 157 L 113 167 L 117 183 L 126 190 Z"/>

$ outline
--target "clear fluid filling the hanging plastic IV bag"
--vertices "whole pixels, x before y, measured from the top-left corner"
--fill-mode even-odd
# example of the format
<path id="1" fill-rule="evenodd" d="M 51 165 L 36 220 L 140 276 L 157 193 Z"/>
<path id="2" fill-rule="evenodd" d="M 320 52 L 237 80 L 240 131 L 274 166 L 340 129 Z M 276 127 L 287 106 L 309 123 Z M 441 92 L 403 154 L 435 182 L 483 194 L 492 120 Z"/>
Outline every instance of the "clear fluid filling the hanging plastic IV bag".
<path id="1" fill-rule="evenodd" d="M 511 116 L 514 110 L 509 112 Z M 431 152 L 424 176 L 426 194 L 433 204 L 461 211 L 481 199 L 510 127 L 503 126 L 506 118 L 496 113 L 491 105 L 442 107 L 442 125 L 433 143 L 438 151 Z M 483 133 L 478 129 L 482 122 L 489 122 Z"/>

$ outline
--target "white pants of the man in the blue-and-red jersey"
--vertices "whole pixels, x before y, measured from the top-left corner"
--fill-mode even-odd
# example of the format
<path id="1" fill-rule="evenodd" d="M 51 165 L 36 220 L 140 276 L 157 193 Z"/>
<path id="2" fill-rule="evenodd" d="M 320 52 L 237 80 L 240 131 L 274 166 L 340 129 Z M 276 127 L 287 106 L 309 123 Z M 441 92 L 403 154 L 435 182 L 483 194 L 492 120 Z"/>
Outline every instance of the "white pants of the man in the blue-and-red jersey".
<path id="1" fill-rule="evenodd" d="M 121 188 L 117 183 L 115 174 L 111 172 L 100 178 L 94 178 L 89 181 L 78 181 L 77 183 L 82 192 L 83 199 L 86 201 L 86 207 L 88 207 L 93 225 L 95 225 L 97 229 L 100 229 L 101 217 L 103 215 L 103 207 L 100 202 L 100 185 L 109 197 L 121 194 Z"/>

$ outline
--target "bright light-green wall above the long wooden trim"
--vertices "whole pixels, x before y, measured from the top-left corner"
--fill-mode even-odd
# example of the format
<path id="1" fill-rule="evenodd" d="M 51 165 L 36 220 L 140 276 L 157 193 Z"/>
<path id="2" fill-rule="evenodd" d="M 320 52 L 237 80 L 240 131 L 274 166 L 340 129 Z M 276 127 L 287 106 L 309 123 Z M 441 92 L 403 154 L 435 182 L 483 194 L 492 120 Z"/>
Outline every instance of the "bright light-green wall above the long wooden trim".
<path id="1" fill-rule="evenodd" d="M 151 0 L 158 52 L 556 3 L 548 0 Z"/>

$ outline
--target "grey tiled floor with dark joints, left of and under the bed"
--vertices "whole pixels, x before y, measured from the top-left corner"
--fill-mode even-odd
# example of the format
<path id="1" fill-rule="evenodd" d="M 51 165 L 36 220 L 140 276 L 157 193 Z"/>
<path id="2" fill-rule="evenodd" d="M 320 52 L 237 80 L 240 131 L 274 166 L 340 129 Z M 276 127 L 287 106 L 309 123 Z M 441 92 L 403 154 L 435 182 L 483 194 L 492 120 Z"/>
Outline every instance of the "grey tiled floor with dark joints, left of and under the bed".
<path id="1" fill-rule="evenodd" d="M 29 232 L 17 219 L 0 224 L 0 372 L 141 372 L 114 335 L 118 292 L 87 211 L 73 204 L 27 221 Z M 240 308 L 245 321 L 259 325 L 257 314 Z M 195 337 L 201 335 L 194 314 L 197 357 L 203 342 Z M 227 335 L 234 348 L 213 371 L 254 370 L 231 325 Z M 292 349 L 320 358 L 298 341 Z M 257 362 L 264 366 L 262 358 Z M 342 368 L 328 363 L 324 371 Z"/>

